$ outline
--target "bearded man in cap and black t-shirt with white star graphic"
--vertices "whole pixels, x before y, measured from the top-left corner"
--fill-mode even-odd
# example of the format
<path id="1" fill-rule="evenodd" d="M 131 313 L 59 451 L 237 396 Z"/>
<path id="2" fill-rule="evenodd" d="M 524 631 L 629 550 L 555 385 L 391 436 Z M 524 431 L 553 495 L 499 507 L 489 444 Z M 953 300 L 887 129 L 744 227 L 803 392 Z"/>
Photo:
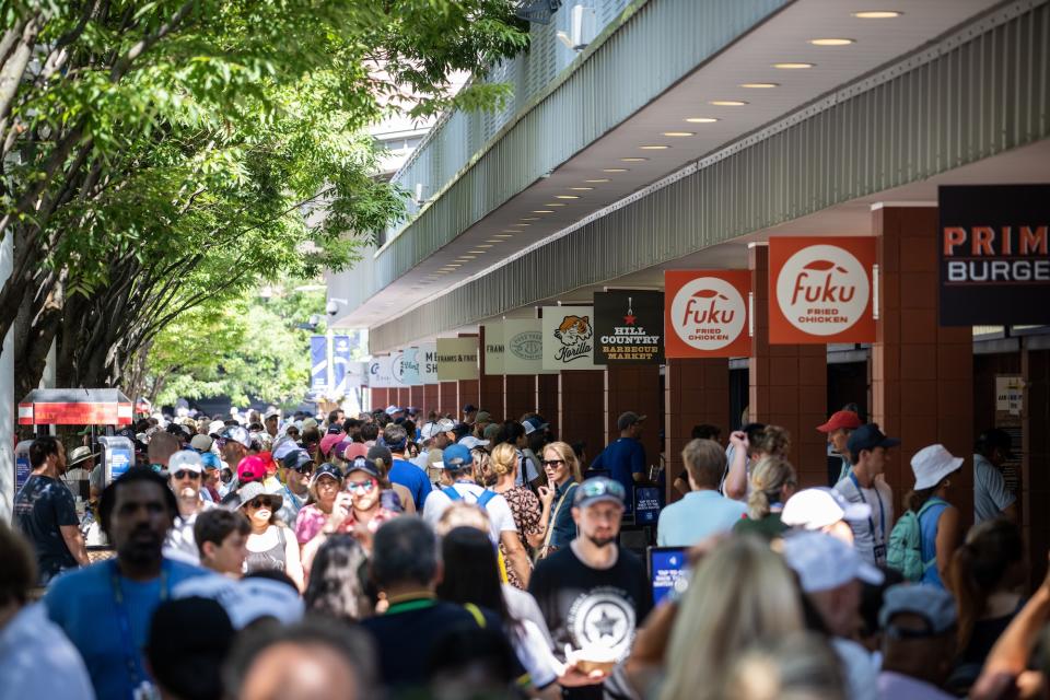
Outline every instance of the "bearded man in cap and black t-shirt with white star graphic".
<path id="1" fill-rule="evenodd" d="M 533 571 L 528 592 L 547 620 L 559 661 L 567 661 L 567 644 L 582 650 L 580 658 L 597 650 L 622 661 L 631 651 L 634 629 L 652 607 L 645 567 L 616 544 L 626 497 L 623 486 L 606 477 L 581 483 L 572 501 L 579 535 Z M 604 680 L 604 674 L 584 675 L 570 664 L 560 679 L 570 686 L 562 697 L 602 698 Z"/>

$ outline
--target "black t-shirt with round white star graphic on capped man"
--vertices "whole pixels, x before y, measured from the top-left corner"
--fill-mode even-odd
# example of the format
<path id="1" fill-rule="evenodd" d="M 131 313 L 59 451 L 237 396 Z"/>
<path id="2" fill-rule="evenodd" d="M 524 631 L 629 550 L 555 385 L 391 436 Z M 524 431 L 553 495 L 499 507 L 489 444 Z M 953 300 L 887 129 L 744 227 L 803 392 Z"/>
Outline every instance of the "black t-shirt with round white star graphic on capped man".
<path id="1" fill-rule="evenodd" d="M 562 661 L 565 644 L 612 649 L 622 661 L 631 651 L 635 628 L 653 605 L 645 567 L 622 547 L 610 569 L 592 569 L 571 547 L 560 549 L 536 564 L 528 592 L 539 604 L 555 655 Z M 592 696 L 602 697 L 600 686 L 565 693 L 567 698 Z"/>

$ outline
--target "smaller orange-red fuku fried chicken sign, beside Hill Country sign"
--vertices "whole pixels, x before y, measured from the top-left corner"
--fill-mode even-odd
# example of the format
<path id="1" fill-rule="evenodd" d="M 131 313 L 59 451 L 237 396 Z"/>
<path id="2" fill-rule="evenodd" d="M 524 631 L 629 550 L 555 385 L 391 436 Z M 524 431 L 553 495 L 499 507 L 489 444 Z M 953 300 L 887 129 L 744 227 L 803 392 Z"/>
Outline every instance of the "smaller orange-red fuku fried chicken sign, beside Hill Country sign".
<path id="1" fill-rule="evenodd" d="M 664 354 L 667 358 L 742 358 L 748 332 L 749 270 L 664 272 Z"/>

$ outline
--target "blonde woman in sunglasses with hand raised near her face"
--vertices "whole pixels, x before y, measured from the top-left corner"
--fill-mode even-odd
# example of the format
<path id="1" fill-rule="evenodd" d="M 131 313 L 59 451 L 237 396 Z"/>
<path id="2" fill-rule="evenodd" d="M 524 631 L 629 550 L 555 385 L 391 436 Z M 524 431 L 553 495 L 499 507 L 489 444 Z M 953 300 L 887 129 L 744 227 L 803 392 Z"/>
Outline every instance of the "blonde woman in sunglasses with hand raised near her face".
<path id="1" fill-rule="evenodd" d="M 545 446 L 541 466 L 547 476 L 547 486 L 539 487 L 539 502 L 544 509 L 539 522 L 544 530 L 528 540 L 533 547 L 539 548 L 539 558 L 568 547 L 575 539 L 572 493 L 583 482 L 580 460 L 568 443 L 552 442 Z"/>

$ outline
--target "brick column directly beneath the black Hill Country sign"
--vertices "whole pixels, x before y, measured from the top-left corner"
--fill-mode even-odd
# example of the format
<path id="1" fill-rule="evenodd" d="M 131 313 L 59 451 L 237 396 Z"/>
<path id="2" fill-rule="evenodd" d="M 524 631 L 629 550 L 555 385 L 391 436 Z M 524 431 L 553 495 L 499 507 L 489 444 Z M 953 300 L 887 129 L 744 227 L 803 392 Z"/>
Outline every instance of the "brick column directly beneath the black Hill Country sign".
<path id="1" fill-rule="evenodd" d="M 605 370 L 605 444 L 620 436 L 616 421 L 620 413 L 645 416 L 642 445 L 645 466 L 660 462 L 660 365 L 611 365 Z M 595 453 L 597 454 L 597 453 Z"/>

